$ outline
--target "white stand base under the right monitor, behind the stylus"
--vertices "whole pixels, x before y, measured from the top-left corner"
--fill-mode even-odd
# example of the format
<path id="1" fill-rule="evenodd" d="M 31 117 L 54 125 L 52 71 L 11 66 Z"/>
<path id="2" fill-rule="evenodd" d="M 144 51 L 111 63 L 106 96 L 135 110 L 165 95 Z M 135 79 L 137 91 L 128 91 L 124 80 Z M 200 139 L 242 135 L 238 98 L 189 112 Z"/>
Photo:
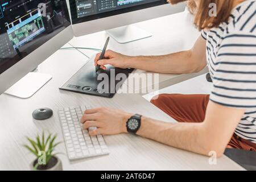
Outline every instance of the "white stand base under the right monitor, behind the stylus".
<path id="1" fill-rule="evenodd" d="M 113 39 L 118 43 L 124 44 L 133 42 L 135 40 L 140 40 L 144 38 L 149 38 L 152 36 L 147 31 L 142 30 L 134 25 L 123 26 L 118 28 L 113 28 L 106 31 Z"/>

